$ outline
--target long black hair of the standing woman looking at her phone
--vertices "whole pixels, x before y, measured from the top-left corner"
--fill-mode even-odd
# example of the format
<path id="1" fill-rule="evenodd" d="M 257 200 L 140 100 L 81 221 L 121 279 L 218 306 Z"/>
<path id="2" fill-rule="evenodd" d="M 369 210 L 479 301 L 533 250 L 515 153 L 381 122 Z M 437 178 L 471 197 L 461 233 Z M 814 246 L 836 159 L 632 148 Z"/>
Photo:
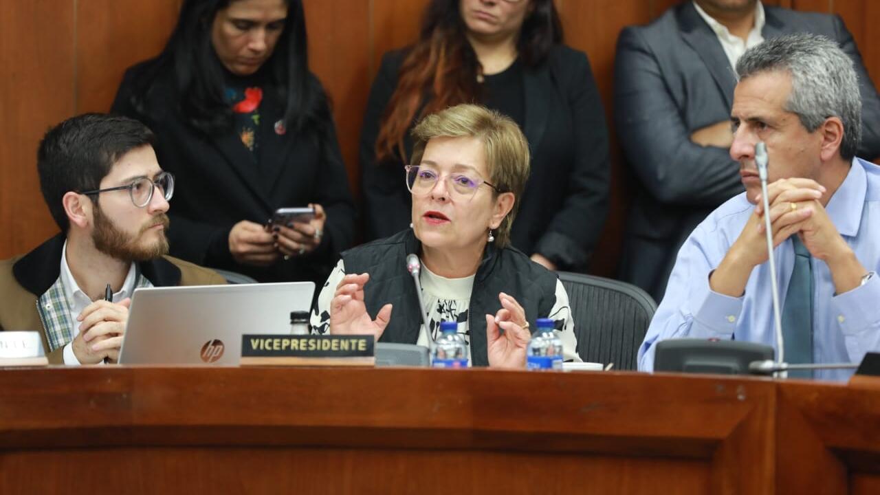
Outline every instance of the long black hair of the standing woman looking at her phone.
<path id="1" fill-rule="evenodd" d="M 132 104 L 143 113 L 158 75 L 173 70 L 180 110 L 197 129 L 214 133 L 229 129 L 232 110 L 224 100 L 224 67 L 211 44 L 211 26 L 217 11 L 237 0 L 185 0 L 180 17 L 162 53 L 136 82 Z M 288 129 L 324 129 L 330 122 L 327 99 L 318 78 L 309 70 L 302 0 L 284 0 L 288 6 L 284 30 L 272 56 L 260 67 L 283 102 Z"/>

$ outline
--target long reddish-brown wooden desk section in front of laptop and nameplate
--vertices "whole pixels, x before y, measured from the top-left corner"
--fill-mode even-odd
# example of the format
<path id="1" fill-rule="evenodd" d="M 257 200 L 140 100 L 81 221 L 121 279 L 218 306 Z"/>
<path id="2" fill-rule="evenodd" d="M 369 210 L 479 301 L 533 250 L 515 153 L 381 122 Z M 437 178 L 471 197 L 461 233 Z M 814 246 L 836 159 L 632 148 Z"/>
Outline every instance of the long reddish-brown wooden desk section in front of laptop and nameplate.
<path id="1" fill-rule="evenodd" d="M 778 393 L 638 373 L 4 370 L 0 493 L 784 493 Z"/>

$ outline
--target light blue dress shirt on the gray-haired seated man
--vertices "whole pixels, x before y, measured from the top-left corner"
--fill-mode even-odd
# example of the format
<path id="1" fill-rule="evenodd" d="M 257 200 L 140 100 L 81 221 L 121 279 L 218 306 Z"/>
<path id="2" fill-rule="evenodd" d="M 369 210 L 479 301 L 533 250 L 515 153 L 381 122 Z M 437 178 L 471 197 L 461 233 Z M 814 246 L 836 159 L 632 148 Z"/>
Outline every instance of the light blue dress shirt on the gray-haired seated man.
<path id="1" fill-rule="evenodd" d="M 709 289 L 709 274 L 737 240 L 753 210 L 742 193 L 713 211 L 687 238 L 639 348 L 640 370 L 653 370 L 655 344 L 667 338 L 733 338 L 776 348 L 769 262 L 752 270 L 743 297 Z M 854 159 L 825 211 L 862 265 L 880 270 L 880 166 Z M 795 262 L 791 240 L 782 242 L 774 253 L 779 300 L 784 301 Z M 880 351 L 880 277 L 835 294 L 831 270 L 818 259 L 813 260 L 813 277 L 815 361 L 859 362 L 865 352 Z M 850 370 L 824 370 L 815 376 L 847 380 L 852 374 Z"/>

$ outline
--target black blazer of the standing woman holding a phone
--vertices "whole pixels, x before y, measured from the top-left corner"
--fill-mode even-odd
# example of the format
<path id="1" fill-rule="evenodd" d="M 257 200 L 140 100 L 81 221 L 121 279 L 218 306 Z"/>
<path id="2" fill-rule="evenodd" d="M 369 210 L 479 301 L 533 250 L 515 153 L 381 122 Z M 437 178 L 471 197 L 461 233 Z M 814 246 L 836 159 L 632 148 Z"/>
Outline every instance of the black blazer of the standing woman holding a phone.
<path id="1" fill-rule="evenodd" d="M 235 131 L 209 135 L 191 126 L 180 112 L 171 70 L 161 74 L 143 113 L 131 102 L 135 81 L 147 63 L 125 73 L 112 111 L 145 123 L 156 133 L 159 165 L 172 172 L 175 191 L 169 211 L 171 253 L 185 260 L 233 270 L 260 282 L 312 280 L 323 283 L 342 250 L 351 246 L 355 211 L 333 122 L 319 135 L 275 132 L 284 113 L 273 91 L 260 105 L 259 161 Z M 240 220 L 263 224 L 282 207 L 320 203 L 326 211 L 321 246 L 312 255 L 279 260 L 260 268 L 241 265 L 229 252 L 229 233 Z"/>

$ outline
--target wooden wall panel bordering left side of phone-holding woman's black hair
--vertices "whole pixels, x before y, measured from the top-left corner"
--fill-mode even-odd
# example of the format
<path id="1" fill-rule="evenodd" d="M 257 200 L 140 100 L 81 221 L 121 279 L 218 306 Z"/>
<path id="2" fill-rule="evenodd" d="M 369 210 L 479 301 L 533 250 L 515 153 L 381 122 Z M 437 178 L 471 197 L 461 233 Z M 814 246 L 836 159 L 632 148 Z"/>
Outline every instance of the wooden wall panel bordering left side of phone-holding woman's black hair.
<path id="1" fill-rule="evenodd" d="M 107 112 L 129 66 L 165 47 L 180 0 L 88 0 L 77 6 L 76 113 Z"/>

